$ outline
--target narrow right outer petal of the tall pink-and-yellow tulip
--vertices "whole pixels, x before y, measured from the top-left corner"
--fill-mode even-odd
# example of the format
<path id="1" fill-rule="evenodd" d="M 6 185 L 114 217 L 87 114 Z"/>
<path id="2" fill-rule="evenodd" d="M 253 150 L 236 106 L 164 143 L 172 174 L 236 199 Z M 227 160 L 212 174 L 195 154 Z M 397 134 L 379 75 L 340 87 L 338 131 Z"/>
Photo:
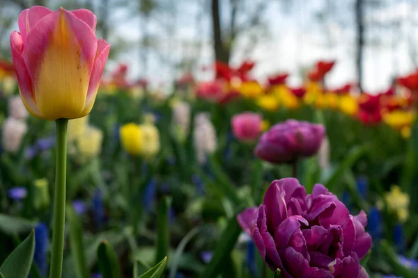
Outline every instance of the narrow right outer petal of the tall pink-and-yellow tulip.
<path id="1" fill-rule="evenodd" d="M 81 117 L 90 113 L 91 108 L 93 108 L 95 97 L 99 90 L 100 79 L 102 78 L 104 66 L 106 65 L 107 57 L 109 56 L 109 51 L 110 44 L 103 39 L 98 40 L 98 49 L 95 56 L 93 71 L 91 72 L 90 81 L 88 82 L 86 104 L 84 105 Z"/>

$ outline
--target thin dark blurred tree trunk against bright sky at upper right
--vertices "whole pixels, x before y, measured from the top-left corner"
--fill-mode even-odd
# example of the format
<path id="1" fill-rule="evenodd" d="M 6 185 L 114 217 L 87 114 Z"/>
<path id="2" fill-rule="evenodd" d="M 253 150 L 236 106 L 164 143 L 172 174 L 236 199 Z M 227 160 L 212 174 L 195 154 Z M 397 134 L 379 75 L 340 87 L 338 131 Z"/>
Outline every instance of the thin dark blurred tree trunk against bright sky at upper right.
<path id="1" fill-rule="evenodd" d="M 357 53 L 355 65 L 357 67 L 357 81 L 360 92 L 362 90 L 363 81 L 363 47 L 364 47 L 364 22 L 363 22 L 363 0 L 355 1 L 355 17 L 356 17 L 356 31 L 357 31 Z"/>

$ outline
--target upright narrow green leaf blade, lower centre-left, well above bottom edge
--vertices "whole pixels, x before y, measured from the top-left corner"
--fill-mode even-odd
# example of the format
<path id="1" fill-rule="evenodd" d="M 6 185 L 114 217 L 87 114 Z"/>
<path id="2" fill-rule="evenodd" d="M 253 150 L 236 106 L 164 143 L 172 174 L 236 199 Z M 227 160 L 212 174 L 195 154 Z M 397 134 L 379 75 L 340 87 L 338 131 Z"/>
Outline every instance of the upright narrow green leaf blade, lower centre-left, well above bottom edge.
<path id="1" fill-rule="evenodd" d="M 169 231 L 169 206 L 171 200 L 163 197 L 158 206 L 157 215 L 157 252 L 155 254 L 155 264 L 159 263 L 167 256 L 170 247 Z"/>

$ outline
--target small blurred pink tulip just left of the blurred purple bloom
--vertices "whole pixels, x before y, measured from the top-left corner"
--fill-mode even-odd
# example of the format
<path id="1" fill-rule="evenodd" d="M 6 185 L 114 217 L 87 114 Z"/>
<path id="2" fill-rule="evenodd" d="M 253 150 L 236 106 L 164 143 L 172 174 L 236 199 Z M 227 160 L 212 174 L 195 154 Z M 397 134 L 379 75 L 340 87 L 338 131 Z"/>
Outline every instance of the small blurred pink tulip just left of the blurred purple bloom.
<path id="1" fill-rule="evenodd" d="M 234 115 L 231 120 L 233 135 L 241 141 L 252 142 L 260 135 L 261 115 L 251 112 Z"/>

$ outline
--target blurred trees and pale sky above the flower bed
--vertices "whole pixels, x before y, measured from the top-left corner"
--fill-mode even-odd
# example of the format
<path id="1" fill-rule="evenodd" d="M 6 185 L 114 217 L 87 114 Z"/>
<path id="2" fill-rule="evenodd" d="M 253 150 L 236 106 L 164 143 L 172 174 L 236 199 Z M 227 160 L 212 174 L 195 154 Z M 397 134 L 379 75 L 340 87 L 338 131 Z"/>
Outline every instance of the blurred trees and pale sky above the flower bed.
<path id="1" fill-rule="evenodd" d="M 255 77 L 286 71 L 300 83 L 315 60 L 336 59 L 334 85 L 378 91 L 418 62 L 418 0 L 0 0 L 1 57 L 10 56 L 20 11 L 33 5 L 93 10 L 112 60 L 154 83 L 184 72 L 204 79 L 215 58 L 249 58 Z"/>

